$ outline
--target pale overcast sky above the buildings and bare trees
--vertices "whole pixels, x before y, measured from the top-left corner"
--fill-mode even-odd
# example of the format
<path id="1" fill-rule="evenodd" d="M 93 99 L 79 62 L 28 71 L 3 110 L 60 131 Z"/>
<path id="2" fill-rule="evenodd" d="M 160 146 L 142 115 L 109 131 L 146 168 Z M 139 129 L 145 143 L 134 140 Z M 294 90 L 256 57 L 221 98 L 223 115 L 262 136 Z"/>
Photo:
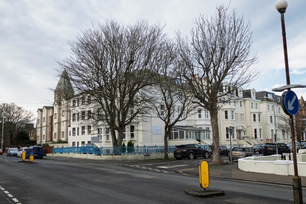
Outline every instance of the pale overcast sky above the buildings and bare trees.
<path id="1" fill-rule="evenodd" d="M 291 84 L 306 85 L 306 1 L 287 0 L 286 36 Z M 57 60 L 69 56 L 68 40 L 105 19 L 165 25 L 173 37 L 187 35 L 200 14 L 211 16 L 219 0 L 0 0 L 0 103 L 15 103 L 36 117 L 37 109 L 53 105 Z M 281 15 L 276 0 L 232 0 L 231 7 L 251 22 L 252 50 L 262 70 L 247 89 L 271 91 L 286 85 Z M 306 99 L 306 88 L 293 89 Z M 282 92 L 277 92 L 282 95 Z"/>

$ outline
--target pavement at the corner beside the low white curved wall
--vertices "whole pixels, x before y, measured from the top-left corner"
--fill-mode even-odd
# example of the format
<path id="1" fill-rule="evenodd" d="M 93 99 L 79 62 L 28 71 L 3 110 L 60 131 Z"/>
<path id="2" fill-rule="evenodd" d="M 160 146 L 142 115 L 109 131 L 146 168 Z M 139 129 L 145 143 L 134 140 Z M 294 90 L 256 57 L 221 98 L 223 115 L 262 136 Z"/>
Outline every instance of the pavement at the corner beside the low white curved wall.
<path id="1" fill-rule="evenodd" d="M 199 176 L 199 169 L 182 169 L 180 171 L 177 171 L 177 173 Z M 292 186 L 293 175 L 276 175 L 268 173 L 254 173 L 249 171 L 242 171 L 238 168 L 238 163 L 233 162 L 232 164 L 209 165 L 209 177 Z M 306 188 L 306 176 L 300 176 L 300 178 L 302 187 Z"/>

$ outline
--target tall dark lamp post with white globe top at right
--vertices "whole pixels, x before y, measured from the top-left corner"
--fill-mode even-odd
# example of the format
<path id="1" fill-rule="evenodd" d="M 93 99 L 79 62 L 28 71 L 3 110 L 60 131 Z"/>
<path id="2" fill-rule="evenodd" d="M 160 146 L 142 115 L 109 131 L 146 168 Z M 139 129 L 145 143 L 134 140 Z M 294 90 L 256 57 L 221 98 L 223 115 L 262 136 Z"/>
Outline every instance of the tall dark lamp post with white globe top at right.
<path id="1" fill-rule="evenodd" d="M 281 13 L 286 80 L 287 80 L 287 85 L 289 85 L 287 90 L 290 91 L 290 76 L 289 76 L 287 41 L 286 41 L 285 18 L 284 18 L 284 13 L 286 12 L 287 7 L 288 7 L 288 3 L 286 0 L 278 0 L 275 4 L 276 10 L 279 13 Z M 293 168 L 294 168 L 294 176 L 292 178 L 294 203 L 303 203 L 301 178 L 298 176 L 298 170 L 297 170 L 293 115 L 290 114 L 289 118 L 290 118 L 289 122 L 290 122 L 290 129 L 291 129 Z"/>

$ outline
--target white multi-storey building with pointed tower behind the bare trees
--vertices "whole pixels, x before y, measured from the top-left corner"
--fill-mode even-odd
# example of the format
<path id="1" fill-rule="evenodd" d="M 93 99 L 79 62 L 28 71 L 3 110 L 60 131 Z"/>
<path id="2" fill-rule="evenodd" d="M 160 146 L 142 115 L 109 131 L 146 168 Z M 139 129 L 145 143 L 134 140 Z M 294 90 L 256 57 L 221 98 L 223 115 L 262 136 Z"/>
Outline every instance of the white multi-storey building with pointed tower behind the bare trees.
<path id="1" fill-rule="evenodd" d="M 65 71 L 54 93 L 54 106 L 37 111 L 38 143 L 64 140 L 68 146 L 86 143 L 112 146 L 108 124 L 93 118 L 93 115 L 99 116 L 101 108 L 91 102 L 90 95 L 74 95 Z M 274 138 L 275 132 L 277 138 L 281 139 L 279 141 L 286 142 L 290 136 L 277 128 L 275 131 L 275 124 L 280 122 L 275 120 L 285 115 L 279 98 L 270 92 L 256 92 L 255 89 L 235 90 L 231 97 L 224 97 L 218 115 L 220 144 L 262 143 Z M 164 126 L 163 121 L 151 110 L 125 127 L 123 142 L 126 144 L 132 140 L 140 146 L 164 145 Z M 212 143 L 210 114 L 204 108 L 196 109 L 187 119 L 175 124 L 168 138 L 169 145 L 195 142 Z"/>

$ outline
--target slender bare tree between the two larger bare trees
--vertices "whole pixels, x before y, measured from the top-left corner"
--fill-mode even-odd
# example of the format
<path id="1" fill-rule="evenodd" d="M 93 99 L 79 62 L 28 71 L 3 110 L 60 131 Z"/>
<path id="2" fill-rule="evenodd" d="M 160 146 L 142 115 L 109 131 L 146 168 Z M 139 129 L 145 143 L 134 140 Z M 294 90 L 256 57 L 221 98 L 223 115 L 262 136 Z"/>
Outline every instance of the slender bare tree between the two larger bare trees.
<path id="1" fill-rule="evenodd" d="M 192 103 L 193 95 L 190 94 L 190 87 L 181 79 L 181 75 L 175 72 L 177 64 L 175 45 L 168 41 L 162 48 L 160 60 L 157 67 L 156 85 L 157 94 L 155 100 L 151 100 L 152 107 L 155 108 L 157 116 L 165 123 L 164 145 L 165 159 L 168 159 L 168 138 L 173 125 L 185 120 L 197 107 Z"/>

